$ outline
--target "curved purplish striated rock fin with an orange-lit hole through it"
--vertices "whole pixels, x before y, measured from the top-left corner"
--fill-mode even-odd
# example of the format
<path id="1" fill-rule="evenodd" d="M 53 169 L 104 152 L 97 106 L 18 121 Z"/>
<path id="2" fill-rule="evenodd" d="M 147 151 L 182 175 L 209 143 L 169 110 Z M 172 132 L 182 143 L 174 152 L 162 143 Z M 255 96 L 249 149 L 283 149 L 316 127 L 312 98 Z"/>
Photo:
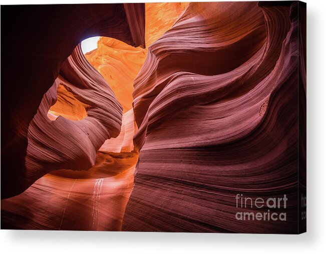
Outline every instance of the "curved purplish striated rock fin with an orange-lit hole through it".
<path id="1" fill-rule="evenodd" d="M 49 108 L 57 100 L 59 86 L 85 106 L 87 116 L 83 120 L 72 121 L 59 116 L 51 121 L 48 118 Z M 80 45 L 77 46 L 62 64 L 59 77 L 44 95 L 30 123 L 25 159 L 27 180 L 33 183 L 56 169 L 91 168 L 95 164 L 96 151 L 104 141 L 119 135 L 121 120 L 122 107 L 114 93 L 86 61 Z"/>

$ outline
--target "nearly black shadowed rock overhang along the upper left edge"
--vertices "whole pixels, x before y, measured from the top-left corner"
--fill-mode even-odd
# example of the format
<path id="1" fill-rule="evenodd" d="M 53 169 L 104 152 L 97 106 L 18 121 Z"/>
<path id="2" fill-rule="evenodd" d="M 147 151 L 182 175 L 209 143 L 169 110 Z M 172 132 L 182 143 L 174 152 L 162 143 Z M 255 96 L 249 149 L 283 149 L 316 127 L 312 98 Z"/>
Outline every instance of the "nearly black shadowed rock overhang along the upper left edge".
<path id="1" fill-rule="evenodd" d="M 2 19 L 10 24 L 2 30 L 1 44 L 1 58 L 6 62 L 1 70 L 2 92 L 10 105 L 1 114 L 2 133 L 6 133 L 2 135 L 1 196 L 8 198 L 23 192 L 44 174 L 33 175 L 25 166 L 28 128 L 62 63 L 83 39 L 92 36 L 112 37 L 144 47 L 145 16 L 144 4 L 5 6 L 2 11 Z M 13 75 L 16 70 L 19 74 Z M 113 125 L 118 128 L 119 124 Z M 115 130 L 110 136 L 117 134 Z M 54 141 L 64 145 L 58 139 Z M 89 152 L 92 155 L 88 156 L 94 159 L 95 151 Z M 89 159 L 84 161 L 91 164 Z"/>

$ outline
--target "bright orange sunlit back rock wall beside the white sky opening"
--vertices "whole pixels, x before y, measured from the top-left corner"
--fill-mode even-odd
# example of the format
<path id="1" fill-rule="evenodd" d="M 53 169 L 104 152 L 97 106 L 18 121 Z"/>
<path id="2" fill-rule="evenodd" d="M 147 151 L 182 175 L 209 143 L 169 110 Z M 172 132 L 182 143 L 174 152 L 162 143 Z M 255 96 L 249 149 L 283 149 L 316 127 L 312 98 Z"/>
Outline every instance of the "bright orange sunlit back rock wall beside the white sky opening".
<path id="1" fill-rule="evenodd" d="M 145 44 L 151 45 L 172 27 L 188 3 L 145 4 Z M 147 57 L 148 48 L 134 48 L 121 40 L 102 37 L 86 59 L 110 84 L 124 112 L 132 109 L 133 82 Z"/>

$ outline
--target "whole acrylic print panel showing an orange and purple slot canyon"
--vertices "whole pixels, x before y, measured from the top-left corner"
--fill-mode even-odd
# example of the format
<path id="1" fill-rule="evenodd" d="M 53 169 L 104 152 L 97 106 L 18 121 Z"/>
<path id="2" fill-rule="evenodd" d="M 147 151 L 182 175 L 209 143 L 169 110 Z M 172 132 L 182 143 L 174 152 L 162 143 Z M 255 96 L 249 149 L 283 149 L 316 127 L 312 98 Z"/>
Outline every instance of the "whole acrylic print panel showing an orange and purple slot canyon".
<path id="1" fill-rule="evenodd" d="M 1 12 L 3 229 L 305 231 L 304 3 Z"/>

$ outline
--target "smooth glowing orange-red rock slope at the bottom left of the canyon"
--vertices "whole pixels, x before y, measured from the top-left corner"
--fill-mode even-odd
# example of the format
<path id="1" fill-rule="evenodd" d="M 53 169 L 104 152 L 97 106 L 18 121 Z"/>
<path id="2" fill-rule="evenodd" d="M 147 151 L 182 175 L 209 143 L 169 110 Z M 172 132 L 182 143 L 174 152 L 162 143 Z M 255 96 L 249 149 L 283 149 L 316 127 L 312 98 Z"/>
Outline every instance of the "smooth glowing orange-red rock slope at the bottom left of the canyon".
<path id="1" fill-rule="evenodd" d="M 136 152 L 98 152 L 89 170 L 57 170 L 1 201 L 1 226 L 47 230 L 121 230 Z"/>

